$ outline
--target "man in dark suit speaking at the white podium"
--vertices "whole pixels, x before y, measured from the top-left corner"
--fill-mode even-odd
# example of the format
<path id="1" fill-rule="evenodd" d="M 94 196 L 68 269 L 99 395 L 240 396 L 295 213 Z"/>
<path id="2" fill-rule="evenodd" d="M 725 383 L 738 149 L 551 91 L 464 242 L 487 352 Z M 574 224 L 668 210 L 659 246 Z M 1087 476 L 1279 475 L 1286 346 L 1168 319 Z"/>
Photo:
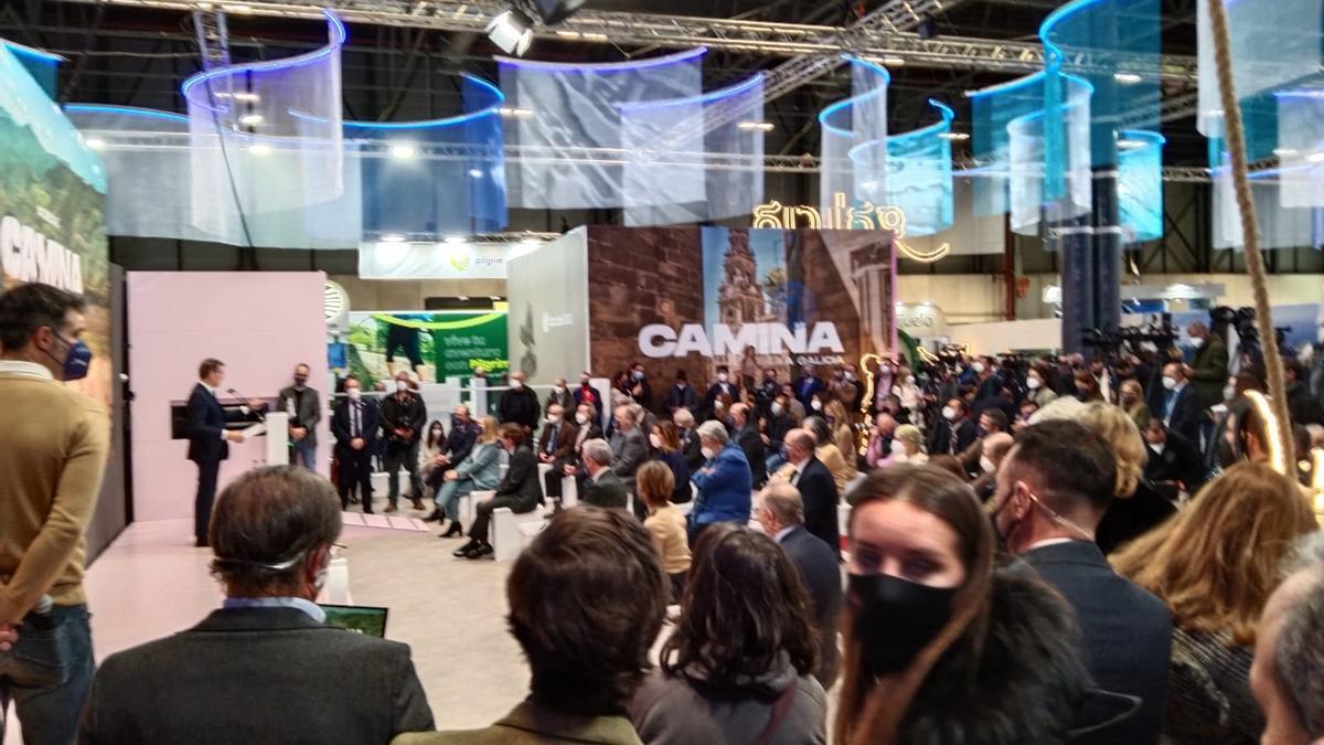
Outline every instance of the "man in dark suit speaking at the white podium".
<path id="1" fill-rule="evenodd" d="M 262 402 L 250 400 L 246 407 L 226 410 L 217 398 L 225 380 L 225 363 L 204 359 L 197 370 L 197 384 L 188 396 L 188 460 L 197 464 L 197 496 L 193 498 L 195 545 L 207 546 L 207 526 L 212 521 L 216 501 L 216 479 L 221 461 L 230 457 L 230 443 L 242 443 L 244 435 L 225 428 L 228 422 L 242 422 L 262 408 Z"/>

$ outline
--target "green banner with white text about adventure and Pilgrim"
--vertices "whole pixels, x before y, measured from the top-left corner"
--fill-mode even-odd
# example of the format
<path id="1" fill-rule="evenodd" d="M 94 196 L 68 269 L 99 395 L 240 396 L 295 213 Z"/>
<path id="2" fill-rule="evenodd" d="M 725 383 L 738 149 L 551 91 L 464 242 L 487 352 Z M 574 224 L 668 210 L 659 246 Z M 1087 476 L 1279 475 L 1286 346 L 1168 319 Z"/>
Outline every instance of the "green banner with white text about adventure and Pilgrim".
<path id="1" fill-rule="evenodd" d="M 385 390 L 401 370 L 424 383 L 469 378 L 479 369 L 498 378 L 510 370 L 506 326 L 504 310 L 351 313 L 348 369 L 369 390 Z"/>

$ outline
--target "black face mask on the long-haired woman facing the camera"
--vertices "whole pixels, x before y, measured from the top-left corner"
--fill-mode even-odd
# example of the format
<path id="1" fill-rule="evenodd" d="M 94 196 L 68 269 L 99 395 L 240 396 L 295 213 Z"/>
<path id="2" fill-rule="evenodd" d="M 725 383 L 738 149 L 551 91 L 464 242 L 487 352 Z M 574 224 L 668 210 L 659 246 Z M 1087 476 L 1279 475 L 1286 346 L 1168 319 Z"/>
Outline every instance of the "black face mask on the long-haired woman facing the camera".
<path id="1" fill-rule="evenodd" d="M 951 620 L 956 597 L 955 587 L 929 587 L 888 574 L 851 574 L 847 591 L 859 607 L 854 632 L 865 669 L 873 675 L 904 669 Z"/>

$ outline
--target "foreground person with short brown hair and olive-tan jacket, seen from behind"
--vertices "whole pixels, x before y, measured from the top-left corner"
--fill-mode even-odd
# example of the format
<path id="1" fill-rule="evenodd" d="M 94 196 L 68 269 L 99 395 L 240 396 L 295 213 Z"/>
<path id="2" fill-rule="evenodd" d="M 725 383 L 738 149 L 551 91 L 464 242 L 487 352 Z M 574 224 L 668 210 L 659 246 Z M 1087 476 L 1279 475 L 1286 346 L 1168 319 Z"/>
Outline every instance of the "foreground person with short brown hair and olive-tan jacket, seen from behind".
<path id="1" fill-rule="evenodd" d="M 639 745 L 625 712 L 651 667 L 666 594 L 657 550 L 633 517 L 557 513 L 506 579 L 510 632 L 532 668 L 528 697 L 486 729 L 392 745 Z"/>

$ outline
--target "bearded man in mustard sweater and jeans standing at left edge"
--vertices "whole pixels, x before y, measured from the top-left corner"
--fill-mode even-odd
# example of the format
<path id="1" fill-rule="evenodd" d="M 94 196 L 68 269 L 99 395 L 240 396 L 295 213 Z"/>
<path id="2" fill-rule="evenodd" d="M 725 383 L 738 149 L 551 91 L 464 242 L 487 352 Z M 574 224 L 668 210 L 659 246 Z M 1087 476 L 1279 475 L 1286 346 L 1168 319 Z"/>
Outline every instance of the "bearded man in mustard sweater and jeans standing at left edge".
<path id="1" fill-rule="evenodd" d="M 0 294 L 0 740 L 12 699 L 29 742 L 73 742 L 93 676 L 83 532 L 110 419 L 60 383 L 87 374 L 85 310 L 50 285 Z"/>

